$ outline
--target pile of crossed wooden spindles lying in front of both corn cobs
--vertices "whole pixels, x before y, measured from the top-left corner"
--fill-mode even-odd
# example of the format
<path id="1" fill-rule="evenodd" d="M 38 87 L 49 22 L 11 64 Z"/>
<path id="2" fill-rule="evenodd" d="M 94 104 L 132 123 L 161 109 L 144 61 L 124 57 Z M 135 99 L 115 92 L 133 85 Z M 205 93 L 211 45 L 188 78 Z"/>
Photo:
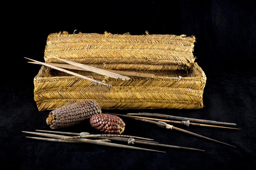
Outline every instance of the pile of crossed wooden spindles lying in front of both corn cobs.
<path id="1" fill-rule="evenodd" d="M 138 150 L 145 150 L 145 151 L 154 151 L 154 152 L 165 153 L 163 151 L 158 151 L 158 150 L 138 148 L 138 147 L 127 146 L 127 145 L 120 145 L 120 144 L 117 144 L 117 143 L 109 143 L 109 142 L 111 142 L 111 140 L 116 140 L 116 141 L 127 142 L 129 145 L 130 144 L 134 144 L 134 143 L 140 143 L 140 144 L 144 144 L 144 145 L 153 145 L 153 146 L 161 146 L 161 147 L 168 147 L 168 148 L 178 148 L 178 149 L 205 151 L 205 150 L 201 150 L 201 149 L 194 149 L 194 148 L 186 148 L 186 147 L 179 147 L 179 146 L 159 144 L 158 142 L 152 141 L 153 139 L 147 139 L 147 138 L 136 137 L 136 136 L 127 136 L 127 135 L 91 135 L 90 133 L 87 133 L 87 132 L 70 133 L 70 132 L 55 132 L 55 131 L 48 131 L 48 130 L 36 130 L 36 131 L 48 132 L 48 133 L 37 133 L 37 132 L 26 132 L 26 131 L 22 131 L 22 132 L 28 133 L 28 134 L 34 134 L 34 135 L 40 135 L 40 136 L 49 137 L 49 138 L 38 138 L 38 137 L 28 137 L 28 138 L 38 139 L 38 140 L 46 140 L 46 141 L 54 141 L 54 142 L 91 143 L 91 144 L 110 146 L 110 147 L 119 147 L 119 148 L 127 148 L 127 149 L 138 149 Z M 64 136 L 64 135 L 55 135 L 55 134 L 49 134 L 49 133 L 73 135 L 73 137 Z M 76 136 L 74 136 L 74 135 L 76 135 Z M 87 138 L 96 138 L 96 140 L 87 139 Z"/>

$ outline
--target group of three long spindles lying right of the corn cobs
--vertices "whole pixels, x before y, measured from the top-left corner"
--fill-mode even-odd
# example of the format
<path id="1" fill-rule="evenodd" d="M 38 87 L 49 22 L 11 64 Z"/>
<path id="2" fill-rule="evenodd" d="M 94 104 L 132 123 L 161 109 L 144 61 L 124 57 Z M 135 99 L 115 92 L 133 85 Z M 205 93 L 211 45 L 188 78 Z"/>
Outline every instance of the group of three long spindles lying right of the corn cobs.
<path id="1" fill-rule="evenodd" d="M 173 125 L 169 125 L 166 122 L 179 123 L 179 124 L 186 125 L 186 126 L 189 126 L 191 124 L 191 125 L 198 125 L 198 126 L 209 126 L 209 127 L 218 127 L 218 128 L 239 129 L 239 128 L 231 128 L 231 127 L 199 124 L 199 123 L 190 123 L 189 121 L 212 123 L 212 124 L 222 124 L 222 125 L 236 125 L 235 123 L 225 123 L 225 122 L 216 122 L 216 121 L 201 120 L 201 119 L 192 119 L 192 118 L 164 115 L 164 114 L 158 114 L 158 113 L 128 113 L 128 115 L 122 115 L 122 114 L 116 114 L 116 115 L 120 115 L 120 116 L 124 116 L 124 117 L 129 117 L 131 119 L 135 119 L 135 120 L 139 120 L 139 121 L 143 121 L 143 122 L 153 123 L 153 124 L 156 124 L 156 125 L 158 125 L 160 127 L 163 127 L 163 128 L 172 129 L 172 130 L 178 130 L 180 132 L 184 132 L 184 133 L 187 133 L 187 134 L 190 134 L 190 135 L 194 135 L 194 136 L 197 136 L 197 137 L 200 137 L 200 138 L 208 139 L 208 140 L 215 141 L 215 142 L 218 142 L 218 143 L 222 143 L 222 144 L 225 144 L 225 145 L 228 145 L 228 146 L 232 146 L 232 147 L 235 147 L 235 146 L 229 145 L 227 143 L 220 142 L 218 140 L 211 139 L 211 138 L 208 138 L 208 137 L 205 137 L 205 136 L 193 133 L 193 132 L 189 132 L 187 130 L 175 127 Z M 181 122 L 180 121 L 170 121 L 170 120 L 154 119 L 154 118 L 149 118 L 149 117 L 130 116 L 130 115 L 165 117 L 165 118 L 178 119 L 178 120 L 182 120 L 182 121 Z"/>

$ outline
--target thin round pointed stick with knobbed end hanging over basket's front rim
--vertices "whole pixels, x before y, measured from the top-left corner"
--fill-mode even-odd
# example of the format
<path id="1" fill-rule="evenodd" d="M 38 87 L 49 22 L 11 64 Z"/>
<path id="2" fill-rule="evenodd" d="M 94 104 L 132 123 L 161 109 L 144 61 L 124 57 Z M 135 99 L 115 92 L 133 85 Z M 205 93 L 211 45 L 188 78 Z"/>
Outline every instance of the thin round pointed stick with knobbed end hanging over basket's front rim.
<path id="1" fill-rule="evenodd" d="M 24 57 L 24 58 L 26 58 L 26 57 Z M 29 59 L 29 58 L 26 58 L 26 59 Z M 37 62 L 37 63 L 40 63 L 40 64 L 42 64 L 42 65 L 44 65 L 44 66 L 47 66 L 47 67 L 50 67 L 50 68 L 53 68 L 53 69 L 62 71 L 62 72 L 64 72 L 64 73 L 68 73 L 68 74 L 71 74 L 71 75 L 80 77 L 80 78 L 82 78 L 82 79 L 86 79 L 86 80 L 92 81 L 92 82 L 94 82 L 94 83 L 98 83 L 98 84 L 101 84 L 101 85 L 105 85 L 105 86 L 108 86 L 108 87 L 112 87 L 111 84 L 106 84 L 106 83 L 103 83 L 103 82 L 101 82 L 101 81 L 99 81 L 99 80 L 94 80 L 94 79 L 91 79 L 91 78 L 89 78 L 89 77 L 86 77 L 86 76 L 83 76 L 83 75 L 74 73 L 74 72 L 69 71 L 69 70 L 65 70 L 65 69 L 62 69 L 62 68 L 59 68 L 59 67 L 56 67 L 56 66 L 52 66 L 52 65 L 50 65 L 50 64 L 47 64 L 47 63 L 44 63 L 44 62 L 40 62 L 40 61 L 36 61 L 36 60 L 33 60 L 33 59 L 29 59 L 29 60 L 35 61 L 35 62 Z"/>

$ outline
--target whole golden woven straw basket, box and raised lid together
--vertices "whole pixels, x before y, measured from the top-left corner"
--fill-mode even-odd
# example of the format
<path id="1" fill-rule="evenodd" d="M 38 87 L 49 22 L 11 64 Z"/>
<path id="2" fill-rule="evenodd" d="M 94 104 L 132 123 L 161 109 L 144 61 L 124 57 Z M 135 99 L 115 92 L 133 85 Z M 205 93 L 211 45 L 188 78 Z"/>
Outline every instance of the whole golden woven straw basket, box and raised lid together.
<path id="1" fill-rule="evenodd" d="M 34 79 L 39 110 L 56 109 L 78 101 L 95 99 L 104 109 L 203 107 L 206 76 L 194 63 L 195 37 L 175 35 L 50 34 L 45 61 L 54 58 L 93 67 L 155 74 L 154 78 L 130 76 L 122 81 L 88 71 L 73 72 L 113 87 L 95 84 L 42 66 Z"/>

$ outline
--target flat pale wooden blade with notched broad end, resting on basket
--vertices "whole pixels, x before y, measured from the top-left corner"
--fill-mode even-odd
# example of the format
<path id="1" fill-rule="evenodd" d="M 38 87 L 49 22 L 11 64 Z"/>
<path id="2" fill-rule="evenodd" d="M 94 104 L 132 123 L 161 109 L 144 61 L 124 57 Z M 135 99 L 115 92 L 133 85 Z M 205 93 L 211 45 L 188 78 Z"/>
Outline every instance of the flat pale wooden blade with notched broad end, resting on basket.
<path id="1" fill-rule="evenodd" d="M 91 72 L 94 72 L 94 73 L 97 73 L 97 74 L 105 75 L 105 76 L 108 76 L 108 77 L 111 77 L 111 78 L 114 78 L 114 79 L 130 80 L 129 77 L 126 77 L 126 76 L 123 76 L 123 75 L 120 75 L 120 74 L 116 74 L 116 73 L 113 73 L 113 72 L 110 72 L 110 71 L 102 70 L 102 69 L 99 69 L 99 68 L 95 68 L 95 67 L 92 67 L 92 66 L 88 66 L 88 65 L 73 62 L 73 61 L 68 61 L 68 60 L 65 60 L 65 59 L 58 58 L 58 57 L 54 57 L 54 58 L 59 59 L 61 61 L 64 61 L 68 64 L 73 65 L 73 66 L 80 67 L 80 68 L 85 69 L 87 71 L 91 71 Z"/>

